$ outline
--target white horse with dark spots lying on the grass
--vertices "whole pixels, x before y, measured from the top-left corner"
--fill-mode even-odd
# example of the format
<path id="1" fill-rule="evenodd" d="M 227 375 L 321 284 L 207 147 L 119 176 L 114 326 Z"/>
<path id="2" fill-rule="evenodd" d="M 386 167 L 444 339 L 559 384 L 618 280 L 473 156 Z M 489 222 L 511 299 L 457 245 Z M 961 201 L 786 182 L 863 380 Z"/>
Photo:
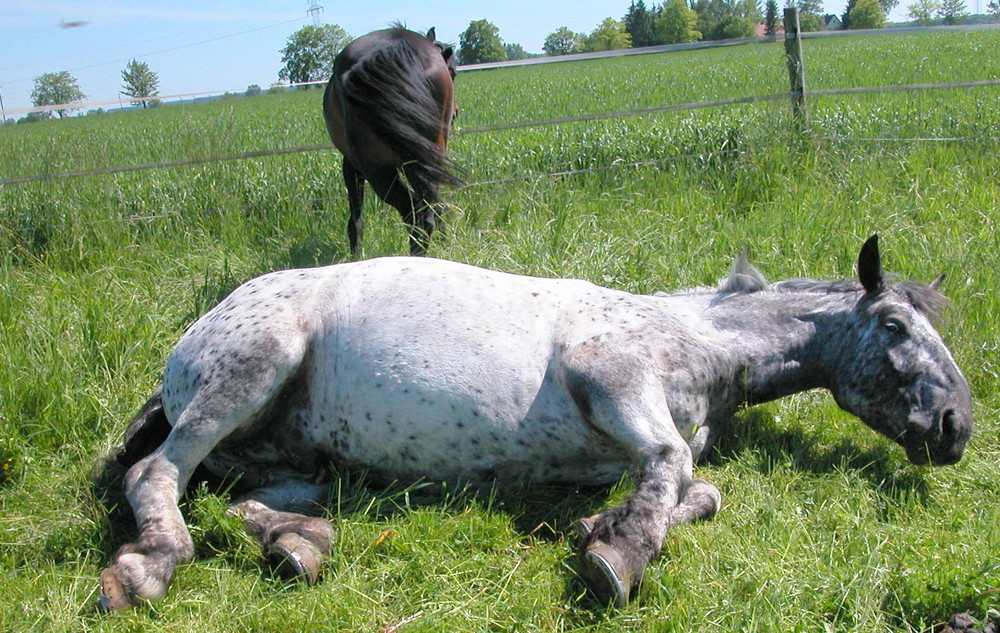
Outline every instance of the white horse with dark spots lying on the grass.
<path id="1" fill-rule="evenodd" d="M 139 534 L 102 604 L 161 598 L 191 559 L 177 503 L 199 465 L 241 477 L 232 511 L 310 582 L 333 530 L 299 513 L 331 461 L 403 482 L 632 471 L 625 502 L 578 524 L 585 583 L 624 604 L 667 530 L 719 509 L 693 464 L 743 404 L 826 388 L 911 462 L 957 462 L 971 399 L 931 323 L 937 282 L 888 282 L 875 237 L 858 274 L 768 284 L 741 257 L 716 289 L 653 296 L 413 258 L 253 279 L 181 337 L 129 427 Z"/>

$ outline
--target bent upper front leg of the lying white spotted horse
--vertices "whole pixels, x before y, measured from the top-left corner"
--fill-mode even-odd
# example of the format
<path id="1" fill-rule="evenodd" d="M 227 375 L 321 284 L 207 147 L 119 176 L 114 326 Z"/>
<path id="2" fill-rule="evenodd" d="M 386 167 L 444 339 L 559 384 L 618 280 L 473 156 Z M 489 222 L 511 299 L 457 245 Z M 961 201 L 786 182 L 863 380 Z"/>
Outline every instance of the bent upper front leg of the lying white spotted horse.
<path id="1" fill-rule="evenodd" d="M 630 353 L 595 338 L 567 350 L 563 361 L 565 385 L 581 417 L 631 454 L 639 468 L 638 484 L 624 503 L 580 524 L 584 582 L 602 602 L 622 606 L 659 555 L 678 506 L 686 508 L 677 517 L 682 520 L 712 514 L 709 506 L 717 504 L 711 495 L 703 502 L 704 487 L 693 484 L 691 448 L 674 424 L 657 366 L 645 350 Z"/>

